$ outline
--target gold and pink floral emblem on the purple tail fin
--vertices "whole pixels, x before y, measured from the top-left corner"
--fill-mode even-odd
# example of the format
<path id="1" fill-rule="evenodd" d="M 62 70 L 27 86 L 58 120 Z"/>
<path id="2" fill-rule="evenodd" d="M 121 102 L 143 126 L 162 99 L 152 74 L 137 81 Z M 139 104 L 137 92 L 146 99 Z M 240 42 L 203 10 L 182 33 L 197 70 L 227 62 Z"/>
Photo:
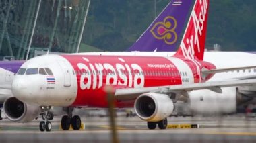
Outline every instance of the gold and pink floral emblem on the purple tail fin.
<path id="1" fill-rule="evenodd" d="M 174 44 L 177 41 L 177 33 L 175 29 L 177 21 L 174 17 L 168 16 L 163 22 L 157 22 L 150 32 L 159 40 L 164 40 L 168 45 Z"/>

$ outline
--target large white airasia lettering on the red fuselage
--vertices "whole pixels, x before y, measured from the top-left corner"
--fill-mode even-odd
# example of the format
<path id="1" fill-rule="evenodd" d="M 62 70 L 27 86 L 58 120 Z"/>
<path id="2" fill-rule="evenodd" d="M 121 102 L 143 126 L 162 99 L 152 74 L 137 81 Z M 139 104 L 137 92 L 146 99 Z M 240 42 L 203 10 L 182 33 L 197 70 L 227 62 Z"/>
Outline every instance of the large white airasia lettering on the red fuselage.
<path id="1" fill-rule="evenodd" d="M 80 77 L 80 88 L 96 89 L 103 85 L 103 79 L 106 79 L 106 85 L 125 85 L 127 87 L 144 87 L 145 77 L 142 68 L 138 64 L 128 65 L 125 60 L 119 58 L 120 63 L 114 66 L 109 63 L 90 63 L 88 58 L 83 58 L 87 63 L 80 62 L 77 64 L 79 70 L 85 70 L 88 73 L 98 74 L 82 74 Z M 106 75 L 102 74 L 108 71 Z M 130 74 L 131 72 L 137 74 Z M 127 73 L 127 74 L 124 74 Z M 105 76 L 105 78 L 103 78 Z"/>

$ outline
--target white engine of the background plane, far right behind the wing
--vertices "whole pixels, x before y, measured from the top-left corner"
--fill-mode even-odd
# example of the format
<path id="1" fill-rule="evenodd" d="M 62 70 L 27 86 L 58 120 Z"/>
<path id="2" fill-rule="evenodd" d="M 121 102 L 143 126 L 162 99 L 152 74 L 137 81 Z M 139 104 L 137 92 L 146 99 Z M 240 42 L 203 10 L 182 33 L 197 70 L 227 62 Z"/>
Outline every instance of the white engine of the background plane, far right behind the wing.
<path id="1" fill-rule="evenodd" d="M 194 114 L 235 113 L 237 105 L 249 100 L 236 87 L 224 87 L 222 93 L 209 89 L 189 92 L 189 107 Z"/>

